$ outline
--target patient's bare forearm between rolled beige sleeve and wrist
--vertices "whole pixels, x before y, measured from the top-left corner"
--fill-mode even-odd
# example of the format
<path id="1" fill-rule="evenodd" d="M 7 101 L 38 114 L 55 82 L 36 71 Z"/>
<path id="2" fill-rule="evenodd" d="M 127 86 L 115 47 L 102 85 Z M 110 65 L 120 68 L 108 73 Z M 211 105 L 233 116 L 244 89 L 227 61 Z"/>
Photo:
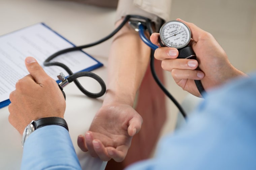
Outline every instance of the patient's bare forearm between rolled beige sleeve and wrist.
<path id="1" fill-rule="evenodd" d="M 138 32 L 126 24 L 116 34 L 111 45 L 103 105 L 121 102 L 132 106 L 149 59 L 150 48 L 141 41 Z"/>

